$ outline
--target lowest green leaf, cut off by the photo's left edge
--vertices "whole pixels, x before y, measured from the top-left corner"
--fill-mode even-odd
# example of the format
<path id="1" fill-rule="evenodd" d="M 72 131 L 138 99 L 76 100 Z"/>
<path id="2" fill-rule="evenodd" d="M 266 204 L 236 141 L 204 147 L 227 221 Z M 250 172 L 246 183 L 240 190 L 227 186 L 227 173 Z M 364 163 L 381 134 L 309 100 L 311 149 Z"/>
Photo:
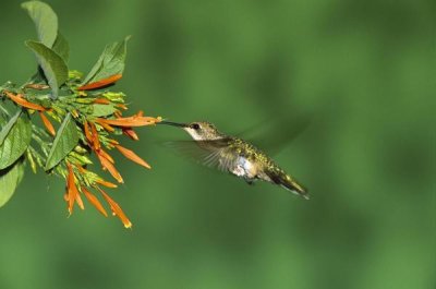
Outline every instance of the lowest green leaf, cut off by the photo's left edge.
<path id="1" fill-rule="evenodd" d="M 24 161 L 20 159 L 13 166 L 0 170 L 0 207 L 11 198 L 24 176 Z"/>

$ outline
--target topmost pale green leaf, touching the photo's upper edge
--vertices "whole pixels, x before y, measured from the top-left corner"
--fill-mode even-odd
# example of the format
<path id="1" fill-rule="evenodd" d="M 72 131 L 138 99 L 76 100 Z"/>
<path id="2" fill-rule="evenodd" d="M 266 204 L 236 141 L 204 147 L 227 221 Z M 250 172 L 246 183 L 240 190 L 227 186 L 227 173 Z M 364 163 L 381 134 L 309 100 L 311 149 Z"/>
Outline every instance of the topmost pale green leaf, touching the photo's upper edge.
<path id="1" fill-rule="evenodd" d="M 33 20 L 38 39 L 47 47 L 52 47 L 58 35 L 58 16 L 47 3 L 28 1 L 21 4 Z"/>

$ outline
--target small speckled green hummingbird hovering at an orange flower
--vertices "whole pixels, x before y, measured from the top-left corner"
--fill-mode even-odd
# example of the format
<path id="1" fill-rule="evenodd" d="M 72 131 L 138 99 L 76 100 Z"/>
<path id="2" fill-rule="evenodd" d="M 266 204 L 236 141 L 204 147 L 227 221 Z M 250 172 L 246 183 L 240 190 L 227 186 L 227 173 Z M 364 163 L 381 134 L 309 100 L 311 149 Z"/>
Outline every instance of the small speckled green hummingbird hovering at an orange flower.
<path id="1" fill-rule="evenodd" d="M 187 132 L 193 141 L 171 143 L 171 146 L 202 165 L 242 178 L 249 184 L 254 184 L 256 180 L 274 183 L 308 200 L 307 191 L 293 177 L 249 142 L 223 134 L 205 121 L 178 123 L 162 120 L 159 124 L 178 127 Z"/>

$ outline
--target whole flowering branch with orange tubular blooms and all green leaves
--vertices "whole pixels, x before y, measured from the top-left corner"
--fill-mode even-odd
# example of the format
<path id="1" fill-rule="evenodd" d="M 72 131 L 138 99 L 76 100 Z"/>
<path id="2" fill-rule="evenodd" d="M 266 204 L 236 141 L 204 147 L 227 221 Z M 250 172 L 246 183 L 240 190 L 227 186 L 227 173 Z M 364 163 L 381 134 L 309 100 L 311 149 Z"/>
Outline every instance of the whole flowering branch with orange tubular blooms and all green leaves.
<path id="1" fill-rule="evenodd" d="M 59 33 L 58 16 L 51 7 L 41 1 L 27 1 L 21 7 L 36 27 L 37 39 L 25 45 L 35 56 L 38 70 L 21 86 L 11 82 L 0 86 L 0 207 L 22 181 L 27 161 L 34 172 L 39 167 L 65 179 L 64 200 L 70 215 L 75 205 L 83 209 L 86 198 L 108 216 L 100 203 L 105 200 L 112 214 L 130 228 L 132 222 L 121 207 L 101 189 L 117 184 L 94 172 L 90 159 L 95 154 L 118 183 L 123 179 L 109 154 L 113 148 L 150 168 L 116 140 L 125 135 L 137 141 L 135 128 L 161 121 L 142 111 L 123 116 L 128 110 L 125 95 L 110 89 L 122 77 L 130 37 L 108 44 L 84 76 L 69 68 L 70 45 Z M 44 127 L 34 122 L 35 115 Z"/>

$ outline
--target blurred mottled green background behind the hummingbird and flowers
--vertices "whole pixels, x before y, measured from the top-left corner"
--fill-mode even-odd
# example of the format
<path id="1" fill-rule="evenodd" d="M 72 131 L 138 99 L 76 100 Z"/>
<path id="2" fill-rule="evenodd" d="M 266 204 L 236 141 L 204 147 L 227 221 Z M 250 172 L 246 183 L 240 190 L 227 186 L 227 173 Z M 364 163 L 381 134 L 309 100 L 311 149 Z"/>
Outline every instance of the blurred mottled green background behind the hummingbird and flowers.
<path id="1" fill-rule="evenodd" d="M 112 191 L 133 230 L 27 173 L 0 209 L 0 288 L 436 288 L 436 2 L 49 1 L 88 71 L 125 35 L 132 108 L 238 133 L 308 127 L 275 156 L 311 191 L 204 169 L 145 128 Z M 20 1 L 2 1 L 1 82 L 34 72 Z M 299 116 L 292 118 L 292 116 Z M 280 139 L 280 134 L 276 136 Z M 264 147 L 268 150 L 267 147 Z"/>

